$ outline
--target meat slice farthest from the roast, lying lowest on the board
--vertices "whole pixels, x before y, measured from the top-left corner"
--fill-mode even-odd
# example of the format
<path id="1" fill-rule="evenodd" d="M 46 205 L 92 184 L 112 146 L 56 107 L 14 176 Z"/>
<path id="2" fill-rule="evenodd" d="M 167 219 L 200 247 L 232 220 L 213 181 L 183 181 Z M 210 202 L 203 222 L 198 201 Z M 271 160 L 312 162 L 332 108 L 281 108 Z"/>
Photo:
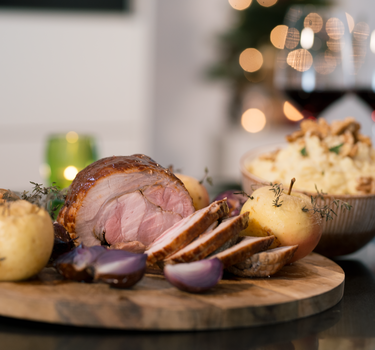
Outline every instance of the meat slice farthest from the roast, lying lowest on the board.
<path id="1" fill-rule="evenodd" d="M 280 271 L 293 257 L 298 245 L 269 249 L 229 266 L 227 270 L 240 277 L 268 277 Z"/>

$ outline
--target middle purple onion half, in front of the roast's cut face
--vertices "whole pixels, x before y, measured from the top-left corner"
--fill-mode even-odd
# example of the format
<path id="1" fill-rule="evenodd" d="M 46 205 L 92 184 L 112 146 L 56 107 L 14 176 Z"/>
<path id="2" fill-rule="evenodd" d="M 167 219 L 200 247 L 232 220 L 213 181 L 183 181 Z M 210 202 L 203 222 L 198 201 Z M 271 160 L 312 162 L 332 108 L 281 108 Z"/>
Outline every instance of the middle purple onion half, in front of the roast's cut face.
<path id="1" fill-rule="evenodd" d="M 146 271 L 147 254 L 124 250 L 107 250 L 90 268 L 95 281 L 102 281 L 116 288 L 135 285 Z"/>

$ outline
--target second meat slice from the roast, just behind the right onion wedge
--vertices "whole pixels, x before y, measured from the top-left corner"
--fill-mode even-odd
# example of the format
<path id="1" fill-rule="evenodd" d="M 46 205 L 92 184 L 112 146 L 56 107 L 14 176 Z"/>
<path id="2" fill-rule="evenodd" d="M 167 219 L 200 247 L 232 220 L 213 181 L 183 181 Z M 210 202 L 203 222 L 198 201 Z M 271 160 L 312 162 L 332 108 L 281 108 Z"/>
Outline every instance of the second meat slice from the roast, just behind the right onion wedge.
<path id="1" fill-rule="evenodd" d="M 201 260 L 244 230 L 249 223 L 249 213 L 222 222 L 216 229 L 204 233 L 185 248 L 170 256 L 165 263 L 177 264 Z"/>

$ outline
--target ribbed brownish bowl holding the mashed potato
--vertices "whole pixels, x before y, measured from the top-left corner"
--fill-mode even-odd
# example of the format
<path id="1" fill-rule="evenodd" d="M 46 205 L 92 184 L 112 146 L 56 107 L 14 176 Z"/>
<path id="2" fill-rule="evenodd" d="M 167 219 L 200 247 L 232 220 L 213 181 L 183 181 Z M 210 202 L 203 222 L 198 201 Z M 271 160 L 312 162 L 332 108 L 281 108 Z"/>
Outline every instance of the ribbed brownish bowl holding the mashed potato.
<path id="1" fill-rule="evenodd" d="M 268 182 L 247 170 L 247 165 L 260 154 L 285 147 L 285 144 L 276 144 L 259 147 L 247 152 L 240 161 L 243 190 L 251 194 L 261 184 Z M 298 191 L 308 196 L 316 193 Z M 350 211 L 338 208 L 333 204 L 335 199 L 352 205 Z M 315 252 L 327 257 L 335 257 L 354 253 L 364 247 L 375 237 L 375 194 L 368 195 L 325 195 L 324 200 L 318 199 L 319 205 L 329 205 L 337 214 L 333 220 L 324 220 L 323 234 L 315 248 Z"/>

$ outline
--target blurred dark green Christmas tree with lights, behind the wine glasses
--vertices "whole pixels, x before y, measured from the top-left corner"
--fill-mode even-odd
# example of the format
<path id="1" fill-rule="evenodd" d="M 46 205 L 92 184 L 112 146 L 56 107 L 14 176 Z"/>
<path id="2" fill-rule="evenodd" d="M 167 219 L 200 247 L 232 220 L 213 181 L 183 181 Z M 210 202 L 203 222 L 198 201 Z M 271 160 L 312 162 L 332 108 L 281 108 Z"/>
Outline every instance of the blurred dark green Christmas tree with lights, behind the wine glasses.
<path id="1" fill-rule="evenodd" d="M 229 83 L 232 94 L 229 115 L 234 122 L 237 122 L 242 114 L 244 97 L 250 85 L 258 83 L 268 85 L 268 88 L 272 89 L 273 69 L 267 67 L 273 66 L 277 49 L 271 45 L 270 34 L 276 26 L 283 24 L 290 7 L 327 6 L 332 3 L 330 0 L 229 0 L 235 9 L 246 2 L 250 3 L 250 6 L 236 11 L 237 19 L 233 27 L 219 36 L 220 59 L 208 71 L 210 78 Z M 265 57 L 264 64 L 261 64 L 263 67 L 252 72 L 245 71 L 239 63 L 241 53 L 249 48 L 268 53 L 268 58 Z M 274 52 L 273 55 L 270 54 L 270 50 Z M 271 59 L 272 62 L 267 62 L 267 59 Z"/>

